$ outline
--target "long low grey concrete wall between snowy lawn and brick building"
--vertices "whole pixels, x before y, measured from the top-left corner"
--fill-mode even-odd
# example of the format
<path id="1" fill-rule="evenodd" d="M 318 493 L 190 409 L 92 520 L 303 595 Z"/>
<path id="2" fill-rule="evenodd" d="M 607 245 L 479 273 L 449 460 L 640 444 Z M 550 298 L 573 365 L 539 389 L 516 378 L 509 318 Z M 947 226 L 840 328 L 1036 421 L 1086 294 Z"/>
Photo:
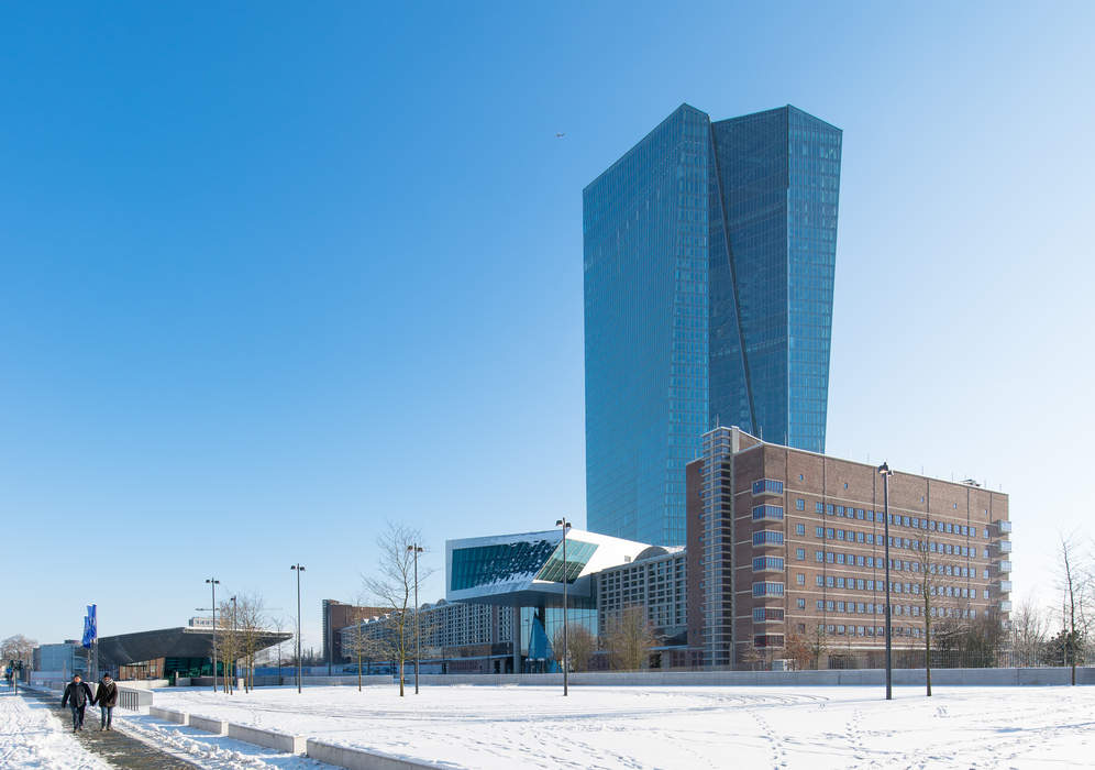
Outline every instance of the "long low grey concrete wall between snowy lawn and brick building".
<path id="1" fill-rule="evenodd" d="M 921 685 L 923 669 L 894 669 L 895 685 Z M 422 684 L 526 684 L 563 686 L 563 674 L 423 674 Z M 932 669 L 931 682 L 941 686 L 1015 686 L 1069 684 L 1065 668 Z M 572 673 L 576 686 L 830 686 L 885 685 L 884 669 L 828 671 L 582 671 Z M 1077 668 L 1076 684 L 1095 684 L 1095 668 Z"/>

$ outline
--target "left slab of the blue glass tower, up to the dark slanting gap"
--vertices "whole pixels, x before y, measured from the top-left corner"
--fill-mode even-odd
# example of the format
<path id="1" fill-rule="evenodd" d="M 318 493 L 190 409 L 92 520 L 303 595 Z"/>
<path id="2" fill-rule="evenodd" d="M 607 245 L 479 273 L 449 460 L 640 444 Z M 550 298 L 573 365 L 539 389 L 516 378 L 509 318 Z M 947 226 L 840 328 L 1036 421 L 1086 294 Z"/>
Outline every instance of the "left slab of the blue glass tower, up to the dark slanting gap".
<path id="1" fill-rule="evenodd" d="M 583 193 L 587 528 L 685 541 L 707 429 L 710 120 L 681 107 Z"/>

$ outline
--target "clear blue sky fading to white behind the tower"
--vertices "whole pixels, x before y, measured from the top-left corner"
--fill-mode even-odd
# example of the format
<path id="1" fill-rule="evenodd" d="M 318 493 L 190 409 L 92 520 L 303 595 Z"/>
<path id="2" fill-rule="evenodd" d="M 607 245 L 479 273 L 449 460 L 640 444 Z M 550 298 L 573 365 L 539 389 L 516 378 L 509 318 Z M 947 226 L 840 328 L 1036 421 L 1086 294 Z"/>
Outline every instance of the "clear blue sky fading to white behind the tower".
<path id="1" fill-rule="evenodd" d="M 1003 485 L 1049 590 L 1095 6 L 1046 6 L 7 4 L 0 636 L 180 624 L 210 574 L 288 617 L 300 561 L 318 646 L 386 519 L 440 572 L 583 521 L 580 191 L 684 101 L 844 130 L 828 449 Z"/>

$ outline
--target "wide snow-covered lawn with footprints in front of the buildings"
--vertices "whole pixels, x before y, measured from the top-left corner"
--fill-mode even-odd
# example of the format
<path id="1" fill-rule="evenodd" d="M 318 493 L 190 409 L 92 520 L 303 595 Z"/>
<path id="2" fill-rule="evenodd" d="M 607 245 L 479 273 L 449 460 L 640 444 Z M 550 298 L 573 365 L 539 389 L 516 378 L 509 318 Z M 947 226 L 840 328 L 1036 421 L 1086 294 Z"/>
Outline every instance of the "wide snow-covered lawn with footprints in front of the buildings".
<path id="1" fill-rule="evenodd" d="M 156 691 L 156 705 L 467 768 L 1095 762 L 1095 688 L 395 686 Z M 162 723 L 159 723 L 162 724 Z M 165 726 L 166 727 L 166 726 Z M 170 729 L 170 728 L 167 728 Z M 188 728 L 182 728 L 188 729 Z"/>

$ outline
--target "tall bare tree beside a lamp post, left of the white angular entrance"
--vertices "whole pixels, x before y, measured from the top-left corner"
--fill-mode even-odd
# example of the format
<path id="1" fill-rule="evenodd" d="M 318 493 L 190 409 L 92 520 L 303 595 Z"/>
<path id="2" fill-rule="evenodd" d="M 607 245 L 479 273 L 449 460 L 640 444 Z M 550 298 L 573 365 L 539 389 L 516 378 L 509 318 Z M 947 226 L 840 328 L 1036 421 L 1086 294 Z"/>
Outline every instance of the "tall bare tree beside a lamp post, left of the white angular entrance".
<path id="1" fill-rule="evenodd" d="M 370 604 L 388 610 L 392 635 L 390 638 L 392 658 L 399 664 L 399 696 L 405 694 L 405 669 L 408 660 L 413 660 L 418 638 L 414 616 L 418 607 L 414 602 L 414 553 L 411 551 L 422 542 L 422 535 L 416 529 L 389 521 L 377 538 L 379 549 L 376 572 L 363 575 L 365 593 L 373 597 Z M 418 564 L 418 582 L 432 573 L 424 568 L 421 559 Z"/>

